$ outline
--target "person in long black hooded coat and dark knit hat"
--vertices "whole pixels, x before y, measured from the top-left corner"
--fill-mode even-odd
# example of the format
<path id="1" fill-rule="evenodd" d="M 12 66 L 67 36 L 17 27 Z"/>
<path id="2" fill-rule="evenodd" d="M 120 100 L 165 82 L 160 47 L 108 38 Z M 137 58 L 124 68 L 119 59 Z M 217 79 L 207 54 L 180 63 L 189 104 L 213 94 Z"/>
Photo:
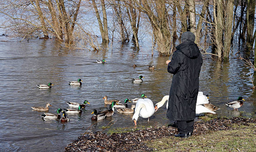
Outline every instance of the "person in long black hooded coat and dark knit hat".
<path id="1" fill-rule="evenodd" d="M 171 122 L 177 121 L 179 134 L 175 136 L 187 138 L 194 130 L 202 54 L 192 32 L 182 33 L 181 40 L 172 60 L 166 61 L 168 72 L 173 74 L 166 116 Z"/>

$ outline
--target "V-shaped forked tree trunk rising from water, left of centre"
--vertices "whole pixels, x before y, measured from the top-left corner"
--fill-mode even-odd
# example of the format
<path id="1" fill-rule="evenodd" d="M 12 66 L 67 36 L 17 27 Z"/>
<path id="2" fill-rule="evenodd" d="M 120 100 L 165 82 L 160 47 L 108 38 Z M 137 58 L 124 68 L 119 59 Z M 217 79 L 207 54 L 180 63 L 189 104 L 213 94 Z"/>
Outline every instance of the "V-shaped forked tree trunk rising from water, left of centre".
<path id="1" fill-rule="evenodd" d="M 103 2 L 103 4 L 102 4 L 102 2 Z M 108 22 L 107 22 L 107 14 L 106 14 L 106 9 L 105 9 L 105 2 L 104 2 L 104 0 L 101 0 L 102 13 L 103 13 L 103 25 L 102 25 L 102 21 L 100 19 L 100 13 L 98 11 L 98 8 L 97 8 L 97 5 L 95 3 L 95 0 L 92 0 L 92 5 L 93 5 L 93 7 L 95 9 L 95 14 L 96 14 L 96 17 L 97 17 L 97 20 L 98 20 L 98 24 L 99 24 L 99 27 L 100 27 L 100 34 L 101 34 L 101 37 L 102 37 L 102 42 L 103 43 L 108 43 L 109 42 L 109 38 L 108 38 Z"/>

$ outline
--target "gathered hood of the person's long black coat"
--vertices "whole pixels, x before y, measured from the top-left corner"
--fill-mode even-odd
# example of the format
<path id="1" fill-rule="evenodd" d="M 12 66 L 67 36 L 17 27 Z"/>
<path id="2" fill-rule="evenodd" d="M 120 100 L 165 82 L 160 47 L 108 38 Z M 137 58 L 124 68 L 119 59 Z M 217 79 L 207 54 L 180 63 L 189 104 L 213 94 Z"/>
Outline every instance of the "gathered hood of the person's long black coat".
<path id="1" fill-rule="evenodd" d="M 197 45 L 192 41 L 183 42 L 182 44 L 176 47 L 177 50 L 180 50 L 184 55 L 189 58 L 197 58 L 200 54 L 200 50 Z"/>

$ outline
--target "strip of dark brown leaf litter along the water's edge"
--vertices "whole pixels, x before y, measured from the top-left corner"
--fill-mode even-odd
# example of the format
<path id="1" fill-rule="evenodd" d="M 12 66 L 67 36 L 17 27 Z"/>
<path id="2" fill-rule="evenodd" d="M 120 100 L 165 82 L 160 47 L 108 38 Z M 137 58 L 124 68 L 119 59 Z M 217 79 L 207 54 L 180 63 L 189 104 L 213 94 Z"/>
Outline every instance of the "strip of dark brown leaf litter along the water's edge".
<path id="1" fill-rule="evenodd" d="M 233 130 L 232 125 L 245 125 L 256 123 L 256 119 L 243 117 L 215 118 L 207 122 L 195 122 L 193 136 L 207 134 L 209 131 Z M 174 137 L 177 133 L 175 127 L 149 127 L 128 133 L 102 132 L 86 133 L 65 147 L 66 152 L 127 152 L 127 151 L 153 151 L 144 142 L 162 137 Z"/>

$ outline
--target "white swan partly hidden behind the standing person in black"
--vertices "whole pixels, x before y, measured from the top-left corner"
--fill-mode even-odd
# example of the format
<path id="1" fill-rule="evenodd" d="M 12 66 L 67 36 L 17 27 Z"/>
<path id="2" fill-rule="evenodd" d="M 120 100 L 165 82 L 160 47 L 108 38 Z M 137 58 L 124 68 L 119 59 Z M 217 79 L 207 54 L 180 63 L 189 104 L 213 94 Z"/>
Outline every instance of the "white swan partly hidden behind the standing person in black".
<path id="1" fill-rule="evenodd" d="M 198 98 L 198 96 L 200 96 L 200 97 Z M 200 114 L 200 113 L 213 113 L 213 114 L 215 114 L 215 112 L 213 112 L 212 110 L 207 109 L 205 106 L 202 105 L 202 104 L 206 104 L 205 102 L 209 103 L 209 100 L 208 100 L 207 96 L 202 95 L 201 93 L 200 93 L 200 95 L 198 95 L 198 96 L 197 96 L 197 102 L 198 102 L 198 103 L 201 103 L 201 104 L 198 104 L 198 103 L 196 104 L 196 114 Z M 207 100 L 206 100 L 205 97 L 203 97 L 203 96 L 205 96 Z M 164 105 L 164 103 L 166 102 L 166 100 L 167 100 L 166 109 L 168 109 L 169 95 L 166 95 L 166 96 L 164 96 L 164 97 L 162 98 L 162 100 L 161 100 L 160 102 L 156 103 L 155 112 L 156 112 L 160 107 L 162 107 L 162 106 Z"/>

